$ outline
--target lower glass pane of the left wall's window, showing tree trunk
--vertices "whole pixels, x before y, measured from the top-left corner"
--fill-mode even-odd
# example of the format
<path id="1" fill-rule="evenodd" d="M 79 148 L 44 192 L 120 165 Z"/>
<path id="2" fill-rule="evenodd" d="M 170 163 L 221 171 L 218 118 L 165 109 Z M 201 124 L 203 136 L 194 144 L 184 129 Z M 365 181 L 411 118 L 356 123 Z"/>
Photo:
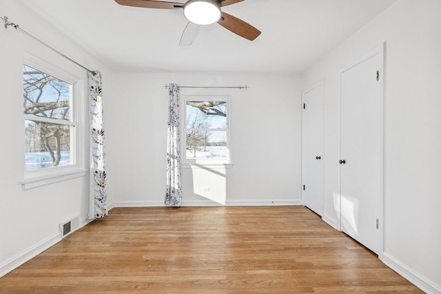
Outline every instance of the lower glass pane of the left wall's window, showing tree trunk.
<path id="1" fill-rule="evenodd" d="M 25 171 L 72 165 L 74 127 L 25 120 Z"/>

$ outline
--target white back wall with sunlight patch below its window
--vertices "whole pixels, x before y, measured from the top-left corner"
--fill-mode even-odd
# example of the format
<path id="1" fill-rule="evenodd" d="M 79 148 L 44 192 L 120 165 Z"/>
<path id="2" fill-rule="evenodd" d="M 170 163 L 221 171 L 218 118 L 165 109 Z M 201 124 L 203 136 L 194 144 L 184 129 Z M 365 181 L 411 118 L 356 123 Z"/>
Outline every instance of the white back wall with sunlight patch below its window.
<path id="1" fill-rule="evenodd" d="M 231 169 L 183 169 L 183 205 L 300 204 L 301 87 L 294 74 L 116 73 L 107 101 L 110 193 L 116 206 L 163 205 L 167 143 L 164 85 L 181 95 L 231 95 Z M 209 192 L 203 188 L 209 187 Z"/>

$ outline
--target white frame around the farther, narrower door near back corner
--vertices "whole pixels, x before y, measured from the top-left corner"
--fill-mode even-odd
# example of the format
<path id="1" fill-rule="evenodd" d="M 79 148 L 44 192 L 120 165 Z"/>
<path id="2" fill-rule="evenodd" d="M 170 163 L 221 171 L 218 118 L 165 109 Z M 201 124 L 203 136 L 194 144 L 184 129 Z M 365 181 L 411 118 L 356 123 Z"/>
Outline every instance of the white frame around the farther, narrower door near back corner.
<path id="1" fill-rule="evenodd" d="M 322 211 L 320 211 L 321 212 L 320 216 L 323 218 L 323 214 L 325 212 L 325 159 L 326 159 L 326 156 L 325 156 L 325 78 L 321 78 L 319 81 L 316 81 L 316 83 L 313 83 L 313 84 L 309 85 L 309 87 L 305 87 L 305 90 L 302 90 L 302 105 L 305 103 L 305 95 L 308 92 L 311 92 L 312 90 L 315 90 L 316 88 L 318 88 L 320 86 L 322 87 L 322 129 L 323 129 L 323 134 L 322 134 L 323 145 L 322 145 L 322 152 L 321 152 L 322 157 L 323 157 L 323 161 L 322 161 L 323 162 L 323 174 L 322 174 L 323 193 L 322 193 L 322 196 L 321 196 L 322 197 Z M 302 109 L 303 109 L 303 106 L 302 106 Z M 302 183 L 305 182 L 304 181 L 305 175 L 303 174 L 303 167 L 304 167 L 304 164 L 305 164 L 305 162 L 303 162 L 303 149 L 304 149 L 304 145 L 303 145 L 303 143 L 304 143 L 304 140 L 303 140 L 303 138 L 304 138 L 304 132 L 303 132 L 304 131 L 304 129 L 303 129 L 303 127 L 304 127 L 304 124 L 303 124 L 304 119 L 303 119 L 303 116 L 304 116 L 304 113 L 305 112 L 302 111 L 302 165 L 301 165 L 301 169 L 302 169 Z M 301 191 L 302 205 L 305 206 L 305 202 L 304 202 L 304 198 L 303 198 L 303 193 L 304 193 L 304 191 L 302 189 L 302 191 Z"/>

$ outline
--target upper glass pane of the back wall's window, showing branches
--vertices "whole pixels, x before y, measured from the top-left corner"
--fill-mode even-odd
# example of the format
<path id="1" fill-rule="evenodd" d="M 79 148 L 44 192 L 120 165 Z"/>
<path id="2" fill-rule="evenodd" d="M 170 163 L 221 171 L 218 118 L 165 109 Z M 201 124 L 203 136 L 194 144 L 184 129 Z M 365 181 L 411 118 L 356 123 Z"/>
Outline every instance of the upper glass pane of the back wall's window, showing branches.
<path id="1" fill-rule="evenodd" d="M 226 101 L 187 101 L 187 129 L 226 129 Z"/>

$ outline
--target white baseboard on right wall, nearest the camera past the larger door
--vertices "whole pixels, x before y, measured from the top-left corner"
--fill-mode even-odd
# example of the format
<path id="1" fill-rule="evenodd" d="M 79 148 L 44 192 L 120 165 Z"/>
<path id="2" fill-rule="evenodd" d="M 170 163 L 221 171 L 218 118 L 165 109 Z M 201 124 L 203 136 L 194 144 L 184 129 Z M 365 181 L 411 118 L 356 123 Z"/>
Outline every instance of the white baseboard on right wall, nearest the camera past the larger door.
<path id="1" fill-rule="evenodd" d="M 384 262 L 384 264 L 393 269 L 393 271 L 399 273 L 402 277 L 404 277 L 404 279 L 408 280 L 425 293 L 441 294 L 440 285 L 428 280 L 427 277 L 424 277 L 420 273 L 417 273 L 415 270 L 411 269 L 411 267 L 407 266 L 407 264 L 403 264 L 396 258 L 393 258 L 393 256 L 389 253 L 383 253 L 382 262 Z"/>

